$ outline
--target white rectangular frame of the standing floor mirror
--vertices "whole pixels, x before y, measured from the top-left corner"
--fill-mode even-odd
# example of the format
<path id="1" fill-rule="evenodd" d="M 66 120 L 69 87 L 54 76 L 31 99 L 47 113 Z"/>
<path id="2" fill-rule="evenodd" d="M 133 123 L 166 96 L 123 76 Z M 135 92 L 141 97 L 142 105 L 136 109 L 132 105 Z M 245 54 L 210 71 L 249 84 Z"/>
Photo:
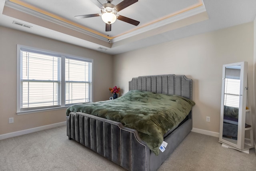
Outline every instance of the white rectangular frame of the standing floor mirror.
<path id="1" fill-rule="evenodd" d="M 223 117 L 224 117 L 224 90 L 225 90 L 225 76 L 226 67 L 241 66 L 240 70 L 240 97 L 238 109 L 238 135 L 237 143 L 223 139 Z M 236 149 L 244 149 L 244 134 L 245 134 L 245 116 L 246 116 L 246 99 L 247 99 L 247 62 L 238 62 L 233 64 L 225 64 L 222 68 L 222 93 L 221 93 L 221 107 L 220 107 L 220 134 L 219 142 Z"/>

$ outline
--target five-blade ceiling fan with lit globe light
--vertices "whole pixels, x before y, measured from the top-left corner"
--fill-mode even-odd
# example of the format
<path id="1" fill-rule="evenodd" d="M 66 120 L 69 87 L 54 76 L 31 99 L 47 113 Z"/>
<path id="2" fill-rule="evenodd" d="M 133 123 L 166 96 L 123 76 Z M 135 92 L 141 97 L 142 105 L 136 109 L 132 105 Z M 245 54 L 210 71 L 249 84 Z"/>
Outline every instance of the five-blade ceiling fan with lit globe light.
<path id="1" fill-rule="evenodd" d="M 124 8 L 138 2 L 138 0 L 123 0 L 116 6 L 111 4 L 113 0 L 106 0 L 107 3 L 101 4 L 98 0 L 91 0 L 96 6 L 101 9 L 102 14 L 87 14 L 81 16 L 75 16 L 76 18 L 90 18 L 90 17 L 98 17 L 101 16 L 102 20 L 106 23 L 106 32 L 111 31 L 111 24 L 113 24 L 116 19 L 121 20 L 123 22 L 127 22 L 129 24 L 133 24 L 134 26 L 138 26 L 140 24 L 139 21 L 133 20 L 131 18 L 127 18 L 125 16 L 117 15 L 117 12 L 123 10 Z"/>

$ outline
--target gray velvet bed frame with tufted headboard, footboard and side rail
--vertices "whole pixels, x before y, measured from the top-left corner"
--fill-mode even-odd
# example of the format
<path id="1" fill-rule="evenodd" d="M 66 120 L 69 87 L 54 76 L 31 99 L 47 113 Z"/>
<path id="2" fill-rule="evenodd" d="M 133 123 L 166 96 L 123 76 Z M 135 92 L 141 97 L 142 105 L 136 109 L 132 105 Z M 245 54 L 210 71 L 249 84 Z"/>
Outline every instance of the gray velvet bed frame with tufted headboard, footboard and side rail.
<path id="1" fill-rule="evenodd" d="M 139 89 L 192 98 L 192 80 L 185 76 L 159 75 L 132 78 L 129 90 Z M 192 113 L 188 119 L 164 138 L 164 152 L 156 156 L 138 135 L 138 131 L 122 123 L 71 112 L 67 117 L 67 135 L 110 161 L 130 171 L 156 171 L 192 129 Z"/>

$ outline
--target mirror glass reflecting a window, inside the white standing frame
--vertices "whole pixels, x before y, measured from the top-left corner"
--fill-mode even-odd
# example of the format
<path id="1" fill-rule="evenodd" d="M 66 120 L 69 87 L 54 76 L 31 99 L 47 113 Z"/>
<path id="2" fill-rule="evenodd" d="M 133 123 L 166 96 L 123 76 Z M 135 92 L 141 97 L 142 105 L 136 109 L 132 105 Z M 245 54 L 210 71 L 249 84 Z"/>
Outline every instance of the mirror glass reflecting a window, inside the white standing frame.
<path id="1" fill-rule="evenodd" d="M 224 87 L 224 118 L 222 138 L 237 144 L 238 110 L 240 99 L 240 72 L 241 66 L 225 68 Z"/>

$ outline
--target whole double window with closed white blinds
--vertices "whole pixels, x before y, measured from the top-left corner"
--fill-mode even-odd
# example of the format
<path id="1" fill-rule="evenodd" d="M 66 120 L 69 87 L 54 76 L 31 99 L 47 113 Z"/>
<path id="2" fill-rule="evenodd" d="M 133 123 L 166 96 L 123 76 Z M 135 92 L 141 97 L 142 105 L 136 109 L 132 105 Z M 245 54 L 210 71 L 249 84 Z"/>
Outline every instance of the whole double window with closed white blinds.
<path id="1" fill-rule="evenodd" d="M 18 45 L 17 113 L 92 101 L 92 60 Z"/>

